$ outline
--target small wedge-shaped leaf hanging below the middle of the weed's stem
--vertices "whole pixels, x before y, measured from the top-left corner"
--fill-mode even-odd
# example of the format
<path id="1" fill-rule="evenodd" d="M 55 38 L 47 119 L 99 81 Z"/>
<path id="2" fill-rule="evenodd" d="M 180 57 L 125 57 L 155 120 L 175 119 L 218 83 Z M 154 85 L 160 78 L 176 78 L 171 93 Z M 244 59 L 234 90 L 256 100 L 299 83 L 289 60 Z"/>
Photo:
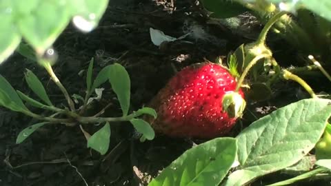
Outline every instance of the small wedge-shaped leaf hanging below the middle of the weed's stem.
<path id="1" fill-rule="evenodd" d="M 106 154 L 109 148 L 109 143 L 110 125 L 108 122 L 88 139 L 88 147 L 96 150 L 101 155 Z"/>

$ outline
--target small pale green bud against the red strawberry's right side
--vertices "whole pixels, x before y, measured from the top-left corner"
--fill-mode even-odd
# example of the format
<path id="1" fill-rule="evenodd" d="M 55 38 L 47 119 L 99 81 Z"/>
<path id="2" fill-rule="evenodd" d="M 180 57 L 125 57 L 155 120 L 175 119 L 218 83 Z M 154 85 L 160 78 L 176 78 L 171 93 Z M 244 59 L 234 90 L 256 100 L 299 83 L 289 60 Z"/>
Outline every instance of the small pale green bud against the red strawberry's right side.
<path id="1" fill-rule="evenodd" d="M 246 101 L 238 92 L 228 92 L 223 96 L 223 112 L 228 113 L 230 118 L 240 118 L 243 116 Z"/>

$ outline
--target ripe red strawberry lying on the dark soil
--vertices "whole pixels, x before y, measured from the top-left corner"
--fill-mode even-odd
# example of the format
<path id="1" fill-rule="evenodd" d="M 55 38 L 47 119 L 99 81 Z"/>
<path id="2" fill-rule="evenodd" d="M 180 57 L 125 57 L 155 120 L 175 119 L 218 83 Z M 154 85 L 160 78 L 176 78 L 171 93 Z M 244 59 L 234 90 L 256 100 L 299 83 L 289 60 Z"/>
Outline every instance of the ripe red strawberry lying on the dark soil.
<path id="1" fill-rule="evenodd" d="M 158 117 L 150 123 L 156 132 L 168 136 L 214 138 L 226 134 L 245 107 L 243 92 L 234 93 L 236 85 L 237 81 L 221 65 L 190 65 L 152 99 L 150 107 L 157 111 Z M 232 99 L 230 102 L 223 101 L 225 94 Z M 241 113 L 232 112 L 230 115 L 234 117 L 230 117 L 223 105 L 233 103 L 233 99 L 239 99 L 234 112 Z"/>

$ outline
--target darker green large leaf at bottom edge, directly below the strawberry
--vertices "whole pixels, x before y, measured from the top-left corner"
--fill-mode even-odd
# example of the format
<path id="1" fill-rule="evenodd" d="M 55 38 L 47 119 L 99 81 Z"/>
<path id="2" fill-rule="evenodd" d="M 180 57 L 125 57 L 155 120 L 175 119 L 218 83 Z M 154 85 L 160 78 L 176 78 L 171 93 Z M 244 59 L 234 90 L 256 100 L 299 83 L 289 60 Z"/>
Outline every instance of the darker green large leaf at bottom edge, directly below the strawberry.
<path id="1" fill-rule="evenodd" d="M 149 186 L 219 185 L 234 162 L 236 152 L 236 139 L 214 138 L 188 149 Z"/>

